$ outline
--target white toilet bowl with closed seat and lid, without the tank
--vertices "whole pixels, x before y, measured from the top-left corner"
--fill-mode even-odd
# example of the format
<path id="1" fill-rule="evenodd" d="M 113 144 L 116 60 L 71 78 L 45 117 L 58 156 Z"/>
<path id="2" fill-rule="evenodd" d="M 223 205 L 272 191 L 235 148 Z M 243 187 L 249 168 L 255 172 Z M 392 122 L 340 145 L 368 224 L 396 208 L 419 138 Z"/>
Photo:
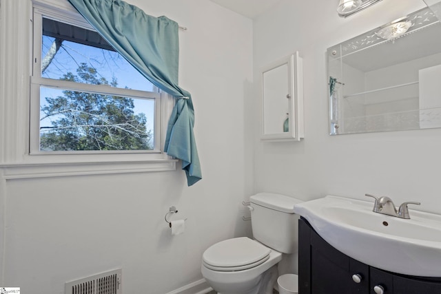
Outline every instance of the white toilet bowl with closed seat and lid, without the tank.
<path id="1" fill-rule="evenodd" d="M 282 253 L 256 240 L 234 238 L 205 251 L 201 273 L 218 293 L 269 294 L 281 259 Z"/>

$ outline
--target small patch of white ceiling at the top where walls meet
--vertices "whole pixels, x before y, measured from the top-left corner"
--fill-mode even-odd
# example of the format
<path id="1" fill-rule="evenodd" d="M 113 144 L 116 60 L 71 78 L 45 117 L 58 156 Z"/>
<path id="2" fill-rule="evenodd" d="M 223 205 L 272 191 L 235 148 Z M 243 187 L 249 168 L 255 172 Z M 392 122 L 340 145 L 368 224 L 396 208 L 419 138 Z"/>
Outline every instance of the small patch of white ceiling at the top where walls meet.
<path id="1" fill-rule="evenodd" d="M 249 19 L 255 19 L 269 10 L 281 0 L 210 0 L 229 10 L 242 14 Z"/>

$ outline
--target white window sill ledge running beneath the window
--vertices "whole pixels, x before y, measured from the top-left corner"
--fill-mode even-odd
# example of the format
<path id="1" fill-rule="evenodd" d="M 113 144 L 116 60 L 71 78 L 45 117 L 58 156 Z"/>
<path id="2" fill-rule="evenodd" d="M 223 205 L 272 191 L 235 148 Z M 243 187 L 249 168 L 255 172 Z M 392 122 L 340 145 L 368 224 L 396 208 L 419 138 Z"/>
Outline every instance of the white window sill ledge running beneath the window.
<path id="1" fill-rule="evenodd" d="M 144 173 L 174 171 L 176 159 L 101 162 L 33 162 L 0 164 L 6 180 L 25 178 L 52 178 L 64 176 L 90 176 L 103 174 Z"/>

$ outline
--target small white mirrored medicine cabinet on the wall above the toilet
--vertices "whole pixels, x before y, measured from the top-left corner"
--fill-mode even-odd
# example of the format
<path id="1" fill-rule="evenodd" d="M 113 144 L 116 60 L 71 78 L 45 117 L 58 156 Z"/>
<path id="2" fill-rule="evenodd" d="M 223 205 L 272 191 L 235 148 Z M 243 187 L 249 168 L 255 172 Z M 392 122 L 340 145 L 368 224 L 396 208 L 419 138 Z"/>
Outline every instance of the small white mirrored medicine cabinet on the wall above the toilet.
<path id="1" fill-rule="evenodd" d="M 303 138 L 302 59 L 291 54 L 262 69 L 261 140 Z"/>

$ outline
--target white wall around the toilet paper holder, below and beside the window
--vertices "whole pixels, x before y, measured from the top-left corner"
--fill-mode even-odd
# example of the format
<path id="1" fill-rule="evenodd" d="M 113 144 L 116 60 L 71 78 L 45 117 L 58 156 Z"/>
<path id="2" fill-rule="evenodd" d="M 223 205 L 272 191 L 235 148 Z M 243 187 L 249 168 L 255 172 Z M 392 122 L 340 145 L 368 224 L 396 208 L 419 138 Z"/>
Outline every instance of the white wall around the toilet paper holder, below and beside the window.
<path id="1" fill-rule="evenodd" d="M 0 180 L 0 286 L 63 293 L 66 281 L 122 267 L 124 293 L 169 293 L 202 279 L 208 246 L 249 234 L 252 21 L 207 0 L 128 2 L 188 28 L 180 85 L 194 99 L 203 180 L 187 187 L 181 169 Z M 172 205 L 187 218 L 183 235 L 165 223 Z"/>

